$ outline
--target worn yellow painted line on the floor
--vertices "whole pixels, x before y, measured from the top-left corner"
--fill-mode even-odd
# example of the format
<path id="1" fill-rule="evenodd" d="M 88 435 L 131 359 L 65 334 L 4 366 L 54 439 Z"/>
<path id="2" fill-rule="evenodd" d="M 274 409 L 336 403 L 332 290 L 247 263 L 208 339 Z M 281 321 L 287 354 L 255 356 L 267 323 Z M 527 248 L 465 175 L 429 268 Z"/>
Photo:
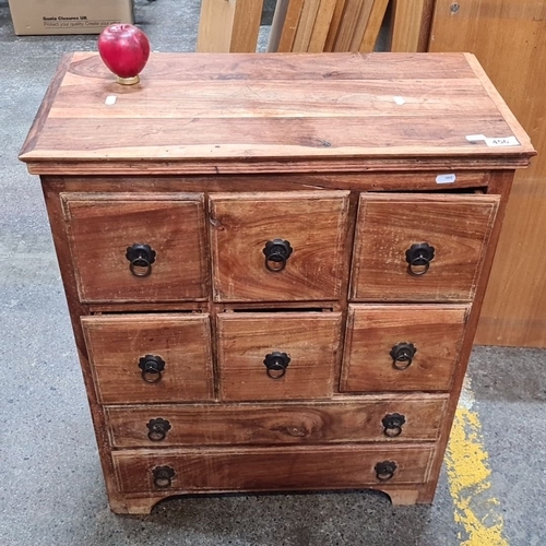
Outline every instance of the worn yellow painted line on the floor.
<path id="1" fill-rule="evenodd" d="M 446 452 L 446 466 L 461 546 L 509 546 L 500 502 L 490 491 L 491 470 L 484 448 L 474 394 L 466 379 Z"/>

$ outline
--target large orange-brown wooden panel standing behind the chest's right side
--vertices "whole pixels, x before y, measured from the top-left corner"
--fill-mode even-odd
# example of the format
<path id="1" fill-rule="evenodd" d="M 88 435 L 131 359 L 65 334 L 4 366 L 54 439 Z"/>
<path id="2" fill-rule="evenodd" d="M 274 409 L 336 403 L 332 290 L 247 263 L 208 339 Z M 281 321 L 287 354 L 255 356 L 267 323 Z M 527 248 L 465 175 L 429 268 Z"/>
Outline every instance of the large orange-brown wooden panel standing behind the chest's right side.
<path id="1" fill-rule="evenodd" d="M 476 343 L 546 347 L 546 253 L 537 251 L 546 233 L 546 1 L 458 3 L 454 13 L 437 0 L 430 49 L 474 52 L 538 151 L 514 179 Z"/>

